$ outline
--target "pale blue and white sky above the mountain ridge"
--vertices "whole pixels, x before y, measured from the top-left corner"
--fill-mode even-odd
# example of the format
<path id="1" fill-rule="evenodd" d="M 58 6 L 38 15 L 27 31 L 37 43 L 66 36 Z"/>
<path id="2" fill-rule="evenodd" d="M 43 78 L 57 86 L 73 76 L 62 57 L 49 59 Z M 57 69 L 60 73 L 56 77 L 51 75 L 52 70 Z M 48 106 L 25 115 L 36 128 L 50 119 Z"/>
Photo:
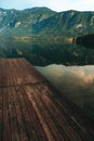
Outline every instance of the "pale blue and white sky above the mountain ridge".
<path id="1" fill-rule="evenodd" d="M 48 7 L 54 11 L 94 11 L 94 0 L 0 0 L 0 8 L 24 10 Z"/>

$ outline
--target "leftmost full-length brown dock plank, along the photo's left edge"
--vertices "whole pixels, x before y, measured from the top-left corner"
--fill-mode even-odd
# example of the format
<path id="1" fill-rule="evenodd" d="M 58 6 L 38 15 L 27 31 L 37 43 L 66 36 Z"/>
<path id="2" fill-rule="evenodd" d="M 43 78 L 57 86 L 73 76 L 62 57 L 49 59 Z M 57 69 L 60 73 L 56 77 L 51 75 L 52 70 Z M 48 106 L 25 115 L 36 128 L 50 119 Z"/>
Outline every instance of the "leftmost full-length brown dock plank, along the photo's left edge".
<path id="1" fill-rule="evenodd" d="M 2 60 L 2 85 L 5 86 L 8 84 L 6 69 L 4 61 Z M 9 117 L 9 102 L 8 102 L 8 89 L 2 88 L 2 113 L 3 113 L 3 124 L 2 124 L 2 136 L 3 140 L 11 141 L 11 132 L 10 132 L 10 117 Z"/>

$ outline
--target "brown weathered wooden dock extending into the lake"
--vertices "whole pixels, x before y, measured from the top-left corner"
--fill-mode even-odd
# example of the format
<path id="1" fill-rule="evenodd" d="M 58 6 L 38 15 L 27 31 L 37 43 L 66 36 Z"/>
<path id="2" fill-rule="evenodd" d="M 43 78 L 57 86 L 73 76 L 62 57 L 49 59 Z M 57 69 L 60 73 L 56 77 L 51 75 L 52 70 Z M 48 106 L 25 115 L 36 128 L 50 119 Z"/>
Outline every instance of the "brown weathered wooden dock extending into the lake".
<path id="1" fill-rule="evenodd" d="M 1 59 L 0 141 L 94 141 L 94 120 L 65 94 L 26 60 Z"/>

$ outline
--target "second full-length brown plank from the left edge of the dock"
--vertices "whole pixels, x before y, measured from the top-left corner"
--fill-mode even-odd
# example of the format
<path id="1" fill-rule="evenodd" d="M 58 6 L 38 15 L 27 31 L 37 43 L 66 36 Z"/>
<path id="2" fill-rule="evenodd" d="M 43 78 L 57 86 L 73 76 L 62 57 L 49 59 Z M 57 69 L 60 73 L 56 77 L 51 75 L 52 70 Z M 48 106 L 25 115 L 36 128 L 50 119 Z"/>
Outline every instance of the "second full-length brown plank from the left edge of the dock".
<path id="1" fill-rule="evenodd" d="M 13 85 L 12 72 L 10 70 L 10 64 L 8 60 L 5 60 L 4 65 L 6 66 L 6 86 Z M 5 89 L 5 88 L 4 88 Z M 16 117 L 16 110 L 15 110 L 15 102 L 13 98 L 13 88 L 6 87 L 8 90 L 8 111 L 9 111 L 9 118 L 10 118 L 10 132 L 11 132 L 11 140 L 12 141 L 19 141 L 19 132 L 18 132 L 18 125 L 17 125 L 17 117 Z"/>

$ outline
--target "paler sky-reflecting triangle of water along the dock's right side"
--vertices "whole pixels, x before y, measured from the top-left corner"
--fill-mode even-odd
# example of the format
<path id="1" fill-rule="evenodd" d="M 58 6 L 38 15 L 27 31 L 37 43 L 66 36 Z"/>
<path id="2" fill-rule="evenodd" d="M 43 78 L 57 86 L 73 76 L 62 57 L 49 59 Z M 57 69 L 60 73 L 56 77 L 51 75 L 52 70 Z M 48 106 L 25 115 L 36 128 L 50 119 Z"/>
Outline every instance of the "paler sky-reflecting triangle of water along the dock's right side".
<path id="1" fill-rule="evenodd" d="M 94 65 L 37 67 L 52 84 L 94 118 Z"/>

